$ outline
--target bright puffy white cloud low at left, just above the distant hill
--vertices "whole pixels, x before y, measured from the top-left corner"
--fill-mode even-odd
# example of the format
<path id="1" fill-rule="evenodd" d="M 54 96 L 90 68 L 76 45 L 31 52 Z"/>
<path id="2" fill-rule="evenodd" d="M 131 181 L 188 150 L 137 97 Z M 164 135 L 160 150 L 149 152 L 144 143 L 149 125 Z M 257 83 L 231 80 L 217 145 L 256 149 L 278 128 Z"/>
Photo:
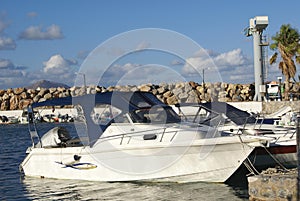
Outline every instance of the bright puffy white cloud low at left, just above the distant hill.
<path id="1" fill-rule="evenodd" d="M 53 55 L 48 61 L 43 62 L 43 71 L 49 74 L 60 75 L 71 71 L 71 66 L 76 65 L 76 60 L 69 60 L 60 54 Z"/>

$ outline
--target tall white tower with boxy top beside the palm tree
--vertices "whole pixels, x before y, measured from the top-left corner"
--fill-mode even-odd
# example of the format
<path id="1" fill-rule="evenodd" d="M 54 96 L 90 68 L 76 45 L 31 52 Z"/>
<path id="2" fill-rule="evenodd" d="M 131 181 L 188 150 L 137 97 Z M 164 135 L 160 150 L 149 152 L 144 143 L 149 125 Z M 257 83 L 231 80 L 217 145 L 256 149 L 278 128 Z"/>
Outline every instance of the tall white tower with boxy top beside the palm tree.
<path id="1" fill-rule="evenodd" d="M 256 16 L 249 20 L 249 27 L 244 29 L 245 35 L 247 37 L 253 37 L 255 78 L 255 96 L 253 98 L 253 101 L 262 101 L 262 94 L 266 92 L 264 77 L 266 77 L 267 48 L 265 47 L 269 44 L 262 40 L 262 33 L 263 30 L 267 28 L 268 24 L 268 16 Z"/>

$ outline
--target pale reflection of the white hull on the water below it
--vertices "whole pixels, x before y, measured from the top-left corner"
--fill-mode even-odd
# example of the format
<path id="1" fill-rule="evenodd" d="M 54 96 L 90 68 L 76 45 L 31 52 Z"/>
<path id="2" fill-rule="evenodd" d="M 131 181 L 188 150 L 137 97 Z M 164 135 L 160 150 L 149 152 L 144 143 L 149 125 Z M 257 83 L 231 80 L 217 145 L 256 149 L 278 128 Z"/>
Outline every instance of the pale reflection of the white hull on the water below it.
<path id="1" fill-rule="evenodd" d="M 107 183 L 30 177 L 22 183 L 30 200 L 248 200 L 244 190 L 215 183 Z"/>

